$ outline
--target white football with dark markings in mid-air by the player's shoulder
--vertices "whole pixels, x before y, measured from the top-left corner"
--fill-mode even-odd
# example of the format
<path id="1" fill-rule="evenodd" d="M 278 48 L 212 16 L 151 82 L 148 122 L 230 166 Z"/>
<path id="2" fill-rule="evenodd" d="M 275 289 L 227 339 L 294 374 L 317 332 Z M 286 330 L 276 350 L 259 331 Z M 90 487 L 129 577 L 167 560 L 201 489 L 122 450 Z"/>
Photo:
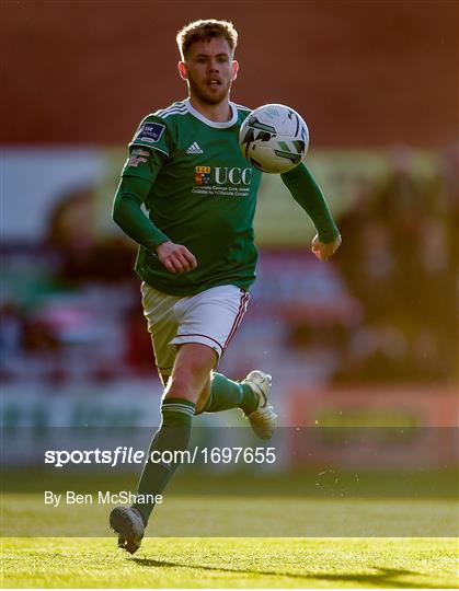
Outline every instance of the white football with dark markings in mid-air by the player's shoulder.
<path id="1" fill-rule="evenodd" d="M 266 173 L 285 173 L 305 160 L 309 130 L 296 111 L 263 105 L 242 121 L 239 144 L 246 160 Z"/>

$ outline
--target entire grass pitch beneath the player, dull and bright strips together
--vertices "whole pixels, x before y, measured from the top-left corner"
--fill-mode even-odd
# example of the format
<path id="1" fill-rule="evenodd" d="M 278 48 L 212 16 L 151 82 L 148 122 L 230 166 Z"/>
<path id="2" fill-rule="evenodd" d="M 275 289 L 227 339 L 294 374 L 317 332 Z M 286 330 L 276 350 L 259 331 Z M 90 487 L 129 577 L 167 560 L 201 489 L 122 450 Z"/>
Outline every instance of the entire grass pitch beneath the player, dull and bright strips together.
<path id="1" fill-rule="evenodd" d="M 42 486 L 42 480 L 30 474 L 27 477 Z M 96 490 L 88 478 L 80 480 Z M 438 485 L 438 478 L 432 480 Z M 5 482 L 11 483 L 11 478 Z M 284 478 L 283 483 L 292 494 L 296 491 L 294 480 Z M 418 498 L 277 496 L 269 482 L 263 488 L 268 496 L 238 496 L 234 490 L 241 483 L 236 480 L 234 490 L 230 483 L 226 486 L 233 495 L 225 497 L 210 494 L 211 482 L 206 484 L 206 495 L 168 495 L 147 530 L 147 535 L 156 537 L 147 537 L 133 557 L 116 549 L 115 536 L 107 537 L 110 507 L 53 509 L 44 506 L 43 494 L 36 491 L 3 494 L 2 586 L 45 589 L 458 586 L 458 542 L 452 537 L 458 531 L 456 495 L 431 498 L 422 496 L 423 487 L 416 486 L 412 488 L 420 491 Z M 51 482 L 47 485 L 54 488 Z M 202 482 L 196 487 L 199 485 Z M 112 490 L 124 488 L 106 486 Z M 374 486 L 382 490 L 381 486 Z M 65 537 L 70 534 L 72 537 Z"/>

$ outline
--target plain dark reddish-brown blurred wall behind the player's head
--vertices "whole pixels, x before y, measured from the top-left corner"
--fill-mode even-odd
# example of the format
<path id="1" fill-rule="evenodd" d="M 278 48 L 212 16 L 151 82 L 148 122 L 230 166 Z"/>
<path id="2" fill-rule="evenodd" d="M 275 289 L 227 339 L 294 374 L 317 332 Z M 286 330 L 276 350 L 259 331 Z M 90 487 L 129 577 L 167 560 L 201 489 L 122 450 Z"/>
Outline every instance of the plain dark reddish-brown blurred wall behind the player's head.
<path id="1" fill-rule="evenodd" d="M 312 144 L 438 147 L 457 137 L 457 3 L 435 0 L 2 2 L 2 141 L 127 143 L 186 94 L 175 34 L 240 33 L 238 103 L 285 103 Z"/>

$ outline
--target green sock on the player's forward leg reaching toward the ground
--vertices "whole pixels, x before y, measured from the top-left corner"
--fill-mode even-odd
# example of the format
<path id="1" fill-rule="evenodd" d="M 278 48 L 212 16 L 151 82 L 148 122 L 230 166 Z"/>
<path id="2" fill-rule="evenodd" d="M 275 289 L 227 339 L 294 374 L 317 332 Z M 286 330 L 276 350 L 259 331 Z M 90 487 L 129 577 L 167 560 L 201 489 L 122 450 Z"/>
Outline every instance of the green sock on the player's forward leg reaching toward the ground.
<path id="1" fill-rule="evenodd" d="M 161 426 L 151 441 L 148 459 L 151 457 L 153 451 L 174 453 L 175 451 L 187 450 L 194 412 L 195 405 L 184 398 L 163 399 Z M 154 461 L 157 456 L 158 454 L 153 456 Z M 147 460 L 137 487 L 137 494 L 161 495 L 177 466 L 177 462 L 153 463 Z M 154 503 L 152 502 L 136 502 L 133 505 L 133 508 L 140 512 L 145 523 L 148 522 L 153 507 Z"/>

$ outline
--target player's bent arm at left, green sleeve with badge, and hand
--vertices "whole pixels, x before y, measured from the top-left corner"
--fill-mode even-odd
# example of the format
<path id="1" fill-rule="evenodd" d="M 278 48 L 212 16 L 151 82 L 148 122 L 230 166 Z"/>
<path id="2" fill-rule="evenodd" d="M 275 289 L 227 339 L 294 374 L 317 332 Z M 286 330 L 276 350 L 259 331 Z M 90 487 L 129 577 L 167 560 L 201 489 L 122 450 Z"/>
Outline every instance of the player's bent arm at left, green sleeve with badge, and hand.
<path id="1" fill-rule="evenodd" d="M 170 273 L 192 270 L 197 265 L 193 254 L 186 246 L 171 242 L 141 209 L 162 163 L 158 151 L 131 146 L 115 195 L 113 220 L 137 244 L 154 253 Z"/>

